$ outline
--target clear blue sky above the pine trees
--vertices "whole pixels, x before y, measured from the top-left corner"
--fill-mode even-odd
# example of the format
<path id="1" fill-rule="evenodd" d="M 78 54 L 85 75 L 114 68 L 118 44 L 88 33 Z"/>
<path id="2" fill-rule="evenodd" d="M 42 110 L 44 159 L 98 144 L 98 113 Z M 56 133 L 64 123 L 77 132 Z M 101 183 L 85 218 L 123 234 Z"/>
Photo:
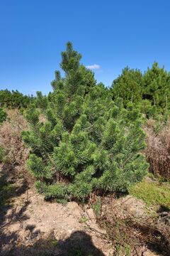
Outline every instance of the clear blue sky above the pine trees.
<path id="1" fill-rule="evenodd" d="M 170 70 L 169 0 L 0 0 L 0 89 L 51 89 L 67 41 L 110 86 L 125 66 Z"/>

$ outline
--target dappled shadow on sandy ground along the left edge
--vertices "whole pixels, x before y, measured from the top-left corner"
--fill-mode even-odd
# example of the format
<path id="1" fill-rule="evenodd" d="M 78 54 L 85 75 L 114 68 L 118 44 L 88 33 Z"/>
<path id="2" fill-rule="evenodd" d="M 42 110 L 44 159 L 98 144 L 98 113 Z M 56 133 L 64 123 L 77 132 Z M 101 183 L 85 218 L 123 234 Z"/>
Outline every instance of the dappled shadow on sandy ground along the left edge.
<path id="1" fill-rule="evenodd" d="M 14 181 L 8 181 L 8 176 L 4 174 L 1 169 L 0 174 L 0 255 L 8 254 L 8 245 L 11 247 L 18 240 L 17 232 L 8 232 L 9 225 L 15 225 L 20 223 L 22 225 L 23 220 L 28 219 L 25 215 L 26 208 L 29 205 L 29 201 L 23 203 L 19 210 L 17 206 L 13 206 L 13 198 L 21 196 L 28 189 L 26 181 L 15 184 Z M 4 250 L 3 247 L 6 247 Z"/>

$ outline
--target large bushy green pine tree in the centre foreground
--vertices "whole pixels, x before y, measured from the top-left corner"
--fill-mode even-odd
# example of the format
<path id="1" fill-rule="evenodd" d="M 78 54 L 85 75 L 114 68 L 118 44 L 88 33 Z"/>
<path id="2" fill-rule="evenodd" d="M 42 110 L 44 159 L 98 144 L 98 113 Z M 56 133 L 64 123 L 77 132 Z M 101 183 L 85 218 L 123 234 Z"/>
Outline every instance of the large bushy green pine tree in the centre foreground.
<path id="1" fill-rule="evenodd" d="M 84 201 L 95 190 L 127 191 L 147 172 L 140 112 L 113 102 L 111 90 L 96 85 L 80 58 L 67 43 L 60 64 L 64 78 L 56 71 L 53 92 L 48 97 L 38 92 L 39 109 L 31 105 L 26 114 L 28 169 L 46 198 Z"/>

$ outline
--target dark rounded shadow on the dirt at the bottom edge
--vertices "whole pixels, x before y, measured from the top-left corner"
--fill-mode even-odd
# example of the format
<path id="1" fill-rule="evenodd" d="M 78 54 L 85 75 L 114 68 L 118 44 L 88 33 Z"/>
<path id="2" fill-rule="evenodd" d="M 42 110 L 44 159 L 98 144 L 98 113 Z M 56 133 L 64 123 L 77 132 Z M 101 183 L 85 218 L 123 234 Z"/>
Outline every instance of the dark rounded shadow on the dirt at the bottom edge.
<path id="1" fill-rule="evenodd" d="M 33 228 L 33 227 L 31 227 Z M 39 235 L 42 235 L 39 233 Z M 36 239 L 36 237 L 35 237 Z M 103 252 L 95 247 L 91 236 L 83 231 L 76 231 L 65 240 L 56 240 L 54 233 L 46 238 L 40 238 L 32 245 L 21 245 L 11 250 L 11 256 L 104 256 Z"/>

